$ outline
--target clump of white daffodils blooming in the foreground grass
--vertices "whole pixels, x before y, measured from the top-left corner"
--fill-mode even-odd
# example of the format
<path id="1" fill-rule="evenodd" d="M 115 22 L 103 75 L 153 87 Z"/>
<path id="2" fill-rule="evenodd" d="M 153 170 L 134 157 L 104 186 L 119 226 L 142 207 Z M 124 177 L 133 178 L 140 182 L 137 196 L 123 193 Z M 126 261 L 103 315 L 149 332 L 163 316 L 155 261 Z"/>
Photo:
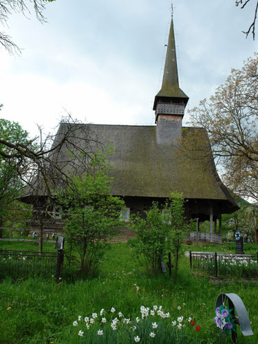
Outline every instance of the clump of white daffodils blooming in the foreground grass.
<path id="1" fill-rule="evenodd" d="M 74 336 L 80 343 L 195 343 L 195 331 L 191 317 L 171 316 L 162 306 L 140 307 L 140 314 L 134 319 L 125 317 L 114 307 L 100 310 L 88 316 L 78 316 L 73 322 Z"/>

